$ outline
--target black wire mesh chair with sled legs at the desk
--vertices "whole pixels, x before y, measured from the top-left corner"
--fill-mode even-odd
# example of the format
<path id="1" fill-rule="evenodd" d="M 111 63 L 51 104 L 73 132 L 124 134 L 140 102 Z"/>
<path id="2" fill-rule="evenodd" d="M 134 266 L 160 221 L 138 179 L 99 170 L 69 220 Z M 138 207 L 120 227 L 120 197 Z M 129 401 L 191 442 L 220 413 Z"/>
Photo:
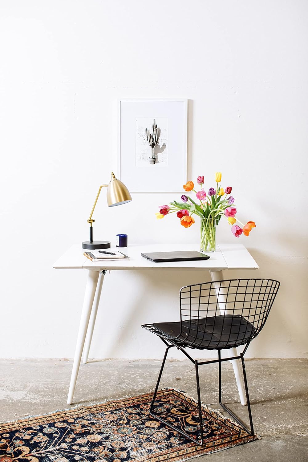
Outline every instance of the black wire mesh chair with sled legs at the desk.
<path id="1" fill-rule="evenodd" d="M 182 287 L 180 290 L 180 321 L 155 322 L 141 327 L 156 334 L 167 346 L 157 384 L 150 407 L 150 415 L 176 432 L 199 445 L 204 444 L 202 409 L 200 400 L 198 366 L 218 362 L 219 404 L 250 435 L 254 435 L 251 415 L 244 354 L 251 342 L 263 328 L 278 292 L 280 282 L 272 279 L 231 279 L 217 282 L 205 282 Z M 221 350 L 245 345 L 238 356 L 221 358 Z M 170 348 L 180 349 L 195 365 L 200 441 L 163 420 L 153 411 L 155 398 L 162 377 L 163 367 Z M 185 348 L 199 350 L 217 350 L 218 359 L 198 361 L 191 358 Z M 232 359 L 241 359 L 247 398 L 250 430 L 221 401 L 221 363 Z"/>

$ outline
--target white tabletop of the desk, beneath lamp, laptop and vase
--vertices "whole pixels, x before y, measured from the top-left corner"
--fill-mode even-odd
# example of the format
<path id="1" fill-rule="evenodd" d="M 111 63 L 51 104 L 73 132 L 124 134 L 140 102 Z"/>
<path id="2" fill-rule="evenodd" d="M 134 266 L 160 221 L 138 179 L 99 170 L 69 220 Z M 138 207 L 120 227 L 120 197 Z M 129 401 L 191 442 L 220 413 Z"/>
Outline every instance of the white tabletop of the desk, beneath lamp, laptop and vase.
<path id="1" fill-rule="evenodd" d="M 193 247 L 193 246 L 192 246 Z M 112 251 L 112 249 L 110 249 Z M 146 260 L 141 256 L 141 252 L 167 252 L 180 250 L 199 250 L 198 248 L 187 248 L 187 245 L 172 244 L 150 244 L 136 245 L 127 248 L 115 248 L 120 250 L 129 258 L 109 261 L 91 261 L 85 257 L 85 249 L 81 244 L 74 244 L 63 254 L 54 264 L 54 268 L 66 269 L 91 269 L 99 271 L 102 269 L 117 270 L 207 270 L 222 271 L 225 269 L 256 269 L 258 264 L 249 254 L 248 250 L 242 244 L 219 244 L 216 246 L 216 252 L 209 252 L 209 260 L 199 261 L 166 261 L 163 263 L 154 263 Z"/>

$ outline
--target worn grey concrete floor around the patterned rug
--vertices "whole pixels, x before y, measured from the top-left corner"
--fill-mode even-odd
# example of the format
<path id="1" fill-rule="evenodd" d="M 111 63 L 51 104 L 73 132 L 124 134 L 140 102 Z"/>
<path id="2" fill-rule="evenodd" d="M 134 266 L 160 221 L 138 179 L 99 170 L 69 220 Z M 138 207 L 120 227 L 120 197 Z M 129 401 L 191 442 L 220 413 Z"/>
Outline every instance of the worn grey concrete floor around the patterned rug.
<path id="1" fill-rule="evenodd" d="M 308 461 L 307 360 L 247 360 L 255 432 L 259 441 L 201 456 L 195 461 Z M 154 390 L 159 360 L 90 360 L 79 371 L 74 404 L 91 404 Z M 67 408 L 72 361 L 66 359 L 0 360 L 0 421 Z M 217 365 L 200 367 L 201 399 L 217 405 Z M 185 390 L 196 397 L 194 368 L 188 360 L 166 363 L 161 387 Z M 229 363 L 223 365 L 223 396 L 248 423 Z M 224 413 L 224 412 L 223 412 Z M 225 414 L 225 413 L 224 413 Z"/>

